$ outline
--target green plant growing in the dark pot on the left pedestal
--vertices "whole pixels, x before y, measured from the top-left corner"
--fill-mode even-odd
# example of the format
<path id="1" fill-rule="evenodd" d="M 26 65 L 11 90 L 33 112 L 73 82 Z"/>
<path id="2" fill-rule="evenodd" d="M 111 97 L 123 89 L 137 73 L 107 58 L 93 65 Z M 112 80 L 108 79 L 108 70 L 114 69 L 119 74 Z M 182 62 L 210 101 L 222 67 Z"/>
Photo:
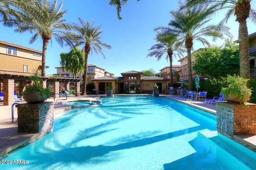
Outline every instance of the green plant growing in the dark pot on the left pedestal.
<path id="1" fill-rule="evenodd" d="M 34 70 L 34 75 L 30 76 L 30 80 L 32 80 L 32 84 L 26 86 L 26 90 L 24 91 L 24 93 L 26 92 L 41 92 L 41 95 L 43 96 L 44 94 L 46 94 L 47 98 L 50 96 L 50 89 L 49 88 L 43 88 L 42 86 L 42 78 L 40 76 L 38 76 L 39 74 L 39 69 Z"/>

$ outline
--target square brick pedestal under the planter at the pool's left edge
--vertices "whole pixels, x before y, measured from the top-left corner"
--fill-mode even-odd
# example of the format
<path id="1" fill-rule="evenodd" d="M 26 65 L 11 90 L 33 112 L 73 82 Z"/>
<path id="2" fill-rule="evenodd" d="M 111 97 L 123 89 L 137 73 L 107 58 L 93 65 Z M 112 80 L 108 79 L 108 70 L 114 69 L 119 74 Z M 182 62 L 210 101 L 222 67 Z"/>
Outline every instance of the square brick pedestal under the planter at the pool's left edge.
<path id="1" fill-rule="evenodd" d="M 19 104 L 17 107 L 18 132 L 39 133 L 39 139 L 53 131 L 53 102 Z"/>

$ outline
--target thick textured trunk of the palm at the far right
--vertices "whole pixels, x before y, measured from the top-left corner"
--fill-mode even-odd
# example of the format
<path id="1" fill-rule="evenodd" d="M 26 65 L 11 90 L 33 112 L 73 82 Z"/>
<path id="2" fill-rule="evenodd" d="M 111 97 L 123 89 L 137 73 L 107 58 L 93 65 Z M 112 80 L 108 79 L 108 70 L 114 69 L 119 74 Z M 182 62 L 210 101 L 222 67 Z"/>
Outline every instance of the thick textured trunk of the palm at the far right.
<path id="1" fill-rule="evenodd" d="M 249 37 L 246 25 L 249 13 L 250 1 L 243 1 L 235 8 L 236 21 L 239 22 L 240 77 L 246 79 L 250 78 Z"/>

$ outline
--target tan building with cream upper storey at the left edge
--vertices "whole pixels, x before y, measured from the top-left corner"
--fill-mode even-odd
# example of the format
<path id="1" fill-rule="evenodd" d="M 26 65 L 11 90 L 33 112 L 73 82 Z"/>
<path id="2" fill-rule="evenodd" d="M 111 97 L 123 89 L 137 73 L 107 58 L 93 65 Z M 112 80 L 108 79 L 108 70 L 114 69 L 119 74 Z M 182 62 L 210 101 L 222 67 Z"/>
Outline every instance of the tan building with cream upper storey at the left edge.
<path id="1" fill-rule="evenodd" d="M 0 74 L 30 76 L 42 64 L 42 51 L 0 40 Z"/>

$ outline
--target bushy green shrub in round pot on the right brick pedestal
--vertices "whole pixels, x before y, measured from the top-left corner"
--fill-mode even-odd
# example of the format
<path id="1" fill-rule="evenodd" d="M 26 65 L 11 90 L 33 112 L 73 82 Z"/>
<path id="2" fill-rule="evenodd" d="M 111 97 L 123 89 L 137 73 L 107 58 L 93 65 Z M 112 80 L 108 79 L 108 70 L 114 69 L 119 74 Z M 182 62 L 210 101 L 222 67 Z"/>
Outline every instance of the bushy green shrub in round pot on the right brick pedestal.
<path id="1" fill-rule="evenodd" d="M 248 79 L 236 76 L 236 74 L 234 76 L 228 75 L 228 87 L 221 90 L 224 99 L 228 102 L 246 104 L 252 94 L 252 90 L 246 86 L 247 82 Z"/>

